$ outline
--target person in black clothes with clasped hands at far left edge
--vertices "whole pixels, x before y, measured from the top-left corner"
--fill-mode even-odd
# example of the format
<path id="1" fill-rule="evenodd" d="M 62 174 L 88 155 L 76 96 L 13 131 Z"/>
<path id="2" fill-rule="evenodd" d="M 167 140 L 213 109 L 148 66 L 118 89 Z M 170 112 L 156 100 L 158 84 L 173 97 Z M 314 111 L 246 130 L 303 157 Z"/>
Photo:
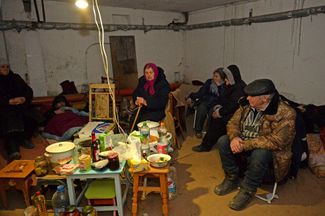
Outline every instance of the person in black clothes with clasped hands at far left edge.
<path id="1" fill-rule="evenodd" d="M 6 59 L 0 59 L 0 134 L 7 144 L 9 161 L 21 158 L 19 146 L 34 148 L 32 135 L 42 121 L 32 106 L 33 90 L 9 69 Z"/>

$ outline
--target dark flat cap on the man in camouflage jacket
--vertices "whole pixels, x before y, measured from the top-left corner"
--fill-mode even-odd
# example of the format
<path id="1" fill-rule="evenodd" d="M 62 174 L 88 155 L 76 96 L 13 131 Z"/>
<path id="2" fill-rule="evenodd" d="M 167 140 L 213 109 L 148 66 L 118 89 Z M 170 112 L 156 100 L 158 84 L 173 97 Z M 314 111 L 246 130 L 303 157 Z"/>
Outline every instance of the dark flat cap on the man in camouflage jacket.
<path id="1" fill-rule="evenodd" d="M 248 96 L 268 95 L 276 92 L 275 86 L 272 80 L 269 79 L 257 79 L 249 83 L 244 92 Z"/>

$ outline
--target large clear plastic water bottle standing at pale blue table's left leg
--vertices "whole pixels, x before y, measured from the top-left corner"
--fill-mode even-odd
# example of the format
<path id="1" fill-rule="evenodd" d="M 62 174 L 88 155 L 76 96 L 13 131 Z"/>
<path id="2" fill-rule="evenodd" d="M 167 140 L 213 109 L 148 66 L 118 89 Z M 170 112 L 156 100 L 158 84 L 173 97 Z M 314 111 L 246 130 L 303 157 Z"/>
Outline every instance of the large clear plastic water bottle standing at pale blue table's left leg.
<path id="1" fill-rule="evenodd" d="M 59 185 L 52 197 L 52 207 L 55 216 L 64 213 L 65 208 L 69 205 L 68 196 L 64 190 L 64 185 Z"/>

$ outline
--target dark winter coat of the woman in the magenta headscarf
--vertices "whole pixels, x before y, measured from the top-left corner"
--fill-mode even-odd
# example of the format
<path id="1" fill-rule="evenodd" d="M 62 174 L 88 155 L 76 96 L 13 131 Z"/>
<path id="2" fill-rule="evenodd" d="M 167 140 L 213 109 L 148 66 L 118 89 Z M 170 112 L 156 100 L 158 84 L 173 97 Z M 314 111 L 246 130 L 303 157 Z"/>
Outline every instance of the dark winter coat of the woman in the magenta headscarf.
<path id="1" fill-rule="evenodd" d="M 136 101 L 137 97 L 143 97 L 147 101 L 147 106 L 142 106 L 139 120 L 161 121 L 165 118 L 165 107 L 168 102 L 168 94 L 170 92 L 169 83 L 163 70 L 159 70 L 156 78 L 154 89 L 155 94 L 150 95 L 145 90 L 144 85 L 146 79 L 144 76 L 139 78 L 138 86 L 133 92 L 133 100 Z"/>

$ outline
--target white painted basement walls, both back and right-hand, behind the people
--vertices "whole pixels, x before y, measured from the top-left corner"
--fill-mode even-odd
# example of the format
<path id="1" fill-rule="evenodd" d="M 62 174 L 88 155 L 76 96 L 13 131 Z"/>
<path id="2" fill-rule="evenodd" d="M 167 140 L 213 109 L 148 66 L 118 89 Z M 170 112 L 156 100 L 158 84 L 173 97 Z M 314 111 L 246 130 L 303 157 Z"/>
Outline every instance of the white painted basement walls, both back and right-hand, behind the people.
<path id="1" fill-rule="evenodd" d="M 251 8 L 254 16 L 288 11 L 301 8 L 303 2 L 304 7 L 325 5 L 325 0 L 258 0 L 192 12 L 189 24 L 247 17 Z M 45 4 L 48 22 L 94 22 L 91 12 L 81 15 L 72 4 L 54 1 L 45 1 Z M 4 20 L 36 20 L 34 11 L 31 14 L 23 11 L 21 0 L 3 0 L 2 7 Z M 178 13 L 124 8 L 101 7 L 101 12 L 104 23 L 119 20 L 123 24 L 167 25 L 174 18 L 181 19 Z M 123 18 L 123 15 L 129 17 Z M 147 33 L 117 31 L 106 33 L 105 38 L 109 42 L 109 36 L 135 37 L 139 76 L 146 62 L 162 66 L 170 82 L 174 80 L 174 72 L 181 72 L 187 81 L 205 80 L 215 68 L 236 63 L 246 82 L 261 77 L 271 78 L 280 93 L 290 99 L 324 104 L 324 27 L 325 15 L 319 14 L 302 18 L 301 25 L 300 19 L 294 19 L 185 33 L 165 30 Z M 29 45 L 26 44 L 27 35 L 24 30 L 20 33 L 6 31 L 5 39 L 11 67 L 16 73 L 23 77 L 26 73 L 35 74 L 29 70 L 37 66 L 37 73 L 44 77 L 46 88 L 43 89 L 36 86 L 36 77 L 30 76 L 30 83 L 37 90 L 36 95 L 60 93 L 59 83 L 65 79 L 75 81 L 79 87 L 97 78 L 99 81 L 103 72 L 99 51 L 96 54 L 96 46 L 93 46 L 98 42 L 96 31 L 39 30 L 37 39 L 32 40 L 34 44 Z M 0 37 L 0 40 L 2 49 L 4 37 Z M 31 50 L 33 45 L 35 49 L 40 49 L 34 52 Z M 29 60 L 31 53 L 41 55 L 43 66 L 36 60 Z"/>

